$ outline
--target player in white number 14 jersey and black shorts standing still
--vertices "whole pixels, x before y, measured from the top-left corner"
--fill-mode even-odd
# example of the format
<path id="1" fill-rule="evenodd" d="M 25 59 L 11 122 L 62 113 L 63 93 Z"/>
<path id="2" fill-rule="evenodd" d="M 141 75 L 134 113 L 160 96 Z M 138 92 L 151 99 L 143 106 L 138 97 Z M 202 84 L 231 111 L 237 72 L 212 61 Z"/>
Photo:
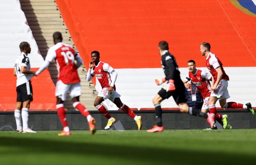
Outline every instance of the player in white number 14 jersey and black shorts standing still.
<path id="1" fill-rule="evenodd" d="M 29 43 L 20 43 L 20 55 L 15 61 L 14 76 L 17 76 L 16 91 L 17 91 L 17 107 L 14 110 L 14 117 L 17 124 L 16 132 L 36 133 L 28 127 L 29 106 L 33 101 L 33 90 L 31 78 L 35 75 L 35 71 L 30 70 L 28 54 L 31 52 Z M 23 128 L 20 118 L 22 116 Z"/>

